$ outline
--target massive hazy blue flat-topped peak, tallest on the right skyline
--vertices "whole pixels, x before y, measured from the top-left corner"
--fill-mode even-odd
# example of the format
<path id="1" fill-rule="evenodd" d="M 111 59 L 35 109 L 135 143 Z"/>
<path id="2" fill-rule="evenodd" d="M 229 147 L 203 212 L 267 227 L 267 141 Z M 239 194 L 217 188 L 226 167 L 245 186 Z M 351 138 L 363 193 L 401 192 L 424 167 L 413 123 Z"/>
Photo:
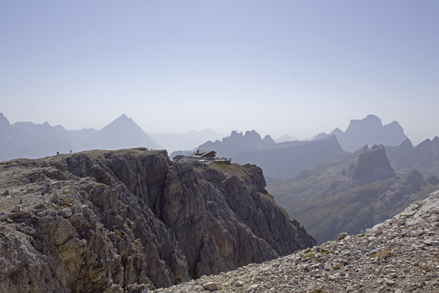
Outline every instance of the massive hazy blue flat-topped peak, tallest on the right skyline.
<path id="1" fill-rule="evenodd" d="M 398 122 L 393 121 L 383 126 L 381 119 L 375 115 L 368 115 L 361 120 L 352 119 L 346 132 L 335 128 L 331 133 L 320 133 L 314 139 L 323 139 L 329 135 L 335 135 L 342 149 L 347 152 L 355 152 L 363 145 L 400 145 L 405 139 L 403 128 Z"/>

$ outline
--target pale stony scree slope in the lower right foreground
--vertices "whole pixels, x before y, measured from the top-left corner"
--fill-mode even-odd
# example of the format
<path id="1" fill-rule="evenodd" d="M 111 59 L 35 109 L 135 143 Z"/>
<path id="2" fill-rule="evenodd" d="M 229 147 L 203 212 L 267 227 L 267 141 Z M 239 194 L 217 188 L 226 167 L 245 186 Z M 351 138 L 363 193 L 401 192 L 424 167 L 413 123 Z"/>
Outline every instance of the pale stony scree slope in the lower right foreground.
<path id="1" fill-rule="evenodd" d="M 436 191 L 364 233 L 155 292 L 439 292 L 438 214 Z"/>

